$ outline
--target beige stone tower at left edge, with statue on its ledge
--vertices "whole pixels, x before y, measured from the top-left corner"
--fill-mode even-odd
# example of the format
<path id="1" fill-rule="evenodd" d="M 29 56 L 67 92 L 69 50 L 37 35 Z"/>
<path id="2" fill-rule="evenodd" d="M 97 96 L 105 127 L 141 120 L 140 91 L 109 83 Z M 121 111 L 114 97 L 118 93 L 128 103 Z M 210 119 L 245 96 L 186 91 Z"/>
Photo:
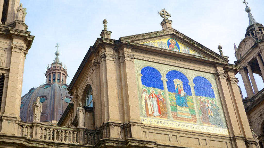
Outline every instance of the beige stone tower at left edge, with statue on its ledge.
<path id="1" fill-rule="evenodd" d="M 19 0 L 0 0 L 0 132 L 17 135 L 24 61 L 34 36 Z"/>

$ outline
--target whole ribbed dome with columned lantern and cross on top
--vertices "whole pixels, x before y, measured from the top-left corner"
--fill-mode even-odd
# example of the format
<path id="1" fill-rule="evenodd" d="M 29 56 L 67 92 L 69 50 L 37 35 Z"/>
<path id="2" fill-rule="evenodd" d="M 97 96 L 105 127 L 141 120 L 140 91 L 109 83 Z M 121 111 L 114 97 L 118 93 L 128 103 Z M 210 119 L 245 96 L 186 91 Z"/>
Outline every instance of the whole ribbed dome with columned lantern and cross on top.
<path id="1" fill-rule="evenodd" d="M 57 45 L 58 48 L 58 45 Z M 43 124 L 56 125 L 69 103 L 72 96 L 68 94 L 67 67 L 59 60 L 59 51 L 55 52 L 55 60 L 47 67 L 46 83 L 37 88 L 31 88 L 21 98 L 20 118 L 21 121 L 33 121 L 32 104 L 36 97 L 40 97 L 43 109 L 40 122 Z"/>

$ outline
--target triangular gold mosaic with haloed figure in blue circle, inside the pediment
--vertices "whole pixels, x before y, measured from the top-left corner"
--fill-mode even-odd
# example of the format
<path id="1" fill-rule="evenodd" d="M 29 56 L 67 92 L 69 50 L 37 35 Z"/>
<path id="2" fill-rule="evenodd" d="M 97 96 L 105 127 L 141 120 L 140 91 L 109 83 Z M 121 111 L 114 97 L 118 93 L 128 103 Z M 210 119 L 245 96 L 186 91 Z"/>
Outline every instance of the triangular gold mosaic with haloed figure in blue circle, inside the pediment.
<path id="1" fill-rule="evenodd" d="M 144 42 L 141 44 L 204 57 L 200 53 L 192 50 L 191 48 L 175 40 L 174 38 L 166 38 L 166 39 L 161 39 L 161 40 Z"/>

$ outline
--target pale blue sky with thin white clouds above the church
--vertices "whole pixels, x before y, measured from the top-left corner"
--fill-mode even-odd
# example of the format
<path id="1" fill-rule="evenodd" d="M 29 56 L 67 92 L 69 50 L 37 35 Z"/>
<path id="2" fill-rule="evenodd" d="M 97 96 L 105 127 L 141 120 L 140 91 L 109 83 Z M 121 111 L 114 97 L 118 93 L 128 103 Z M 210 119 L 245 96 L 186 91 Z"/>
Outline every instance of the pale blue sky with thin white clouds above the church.
<path id="1" fill-rule="evenodd" d="M 46 82 L 48 64 L 54 61 L 56 43 L 59 44 L 59 59 L 66 64 L 67 83 L 70 83 L 90 46 L 100 37 L 103 19 L 108 21 L 107 30 L 111 38 L 162 30 L 163 18 L 158 12 L 166 9 L 172 20 L 172 27 L 219 53 L 223 47 L 224 56 L 234 64 L 234 43 L 239 45 L 249 23 L 242 0 L 167 0 L 167 1 L 118 1 L 118 0 L 21 0 L 27 8 L 25 23 L 34 35 L 29 53 L 26 55 L 22 96 L 30 88 L 37 88 Z M 248 0 L 254 19 L 264 24 L 263 0 Z M 238 85 L 246 97 L 243 81 L 239 74 Z M 263 88 L 261 77 L 254 75 L 258 89 Z"/>

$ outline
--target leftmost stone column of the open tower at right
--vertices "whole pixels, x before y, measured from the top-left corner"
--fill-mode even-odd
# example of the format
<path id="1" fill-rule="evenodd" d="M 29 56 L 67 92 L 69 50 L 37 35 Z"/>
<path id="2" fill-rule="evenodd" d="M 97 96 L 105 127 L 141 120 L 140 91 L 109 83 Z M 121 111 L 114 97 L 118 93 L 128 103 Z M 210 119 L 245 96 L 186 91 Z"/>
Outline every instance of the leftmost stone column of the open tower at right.
<path id="1" fill-rule="evenodd" d="M 246 92 L 247 92 L 247 97 L 251 97 L 254 95 L 254 92 L 253 92 L 253 89 L 252 89 L 252 86 L 251 86 L 251 83 L 249 81 L 249 77 L 248 77 L 248 73 L 247 71 L 245 70 L 245 67 L 241 68 L 239 70 L 239 73 L 241 74 L 241 77 L 242 77 L 242 80 L 243 80 L 243 83 L 244 83 L 244 86 L 246 88 Z"/>

